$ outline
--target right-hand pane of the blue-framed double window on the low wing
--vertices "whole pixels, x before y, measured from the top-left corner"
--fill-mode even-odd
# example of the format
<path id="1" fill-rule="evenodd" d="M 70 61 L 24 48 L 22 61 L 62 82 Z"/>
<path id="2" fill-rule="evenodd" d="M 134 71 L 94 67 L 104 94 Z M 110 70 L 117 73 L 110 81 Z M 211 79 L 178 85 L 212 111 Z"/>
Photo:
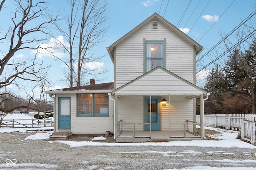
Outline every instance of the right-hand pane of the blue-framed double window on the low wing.
<path id="1" fill-rule="evenodd" d="M 108 94 L 94 94 L 94 113 L 108 114 Z"/>

